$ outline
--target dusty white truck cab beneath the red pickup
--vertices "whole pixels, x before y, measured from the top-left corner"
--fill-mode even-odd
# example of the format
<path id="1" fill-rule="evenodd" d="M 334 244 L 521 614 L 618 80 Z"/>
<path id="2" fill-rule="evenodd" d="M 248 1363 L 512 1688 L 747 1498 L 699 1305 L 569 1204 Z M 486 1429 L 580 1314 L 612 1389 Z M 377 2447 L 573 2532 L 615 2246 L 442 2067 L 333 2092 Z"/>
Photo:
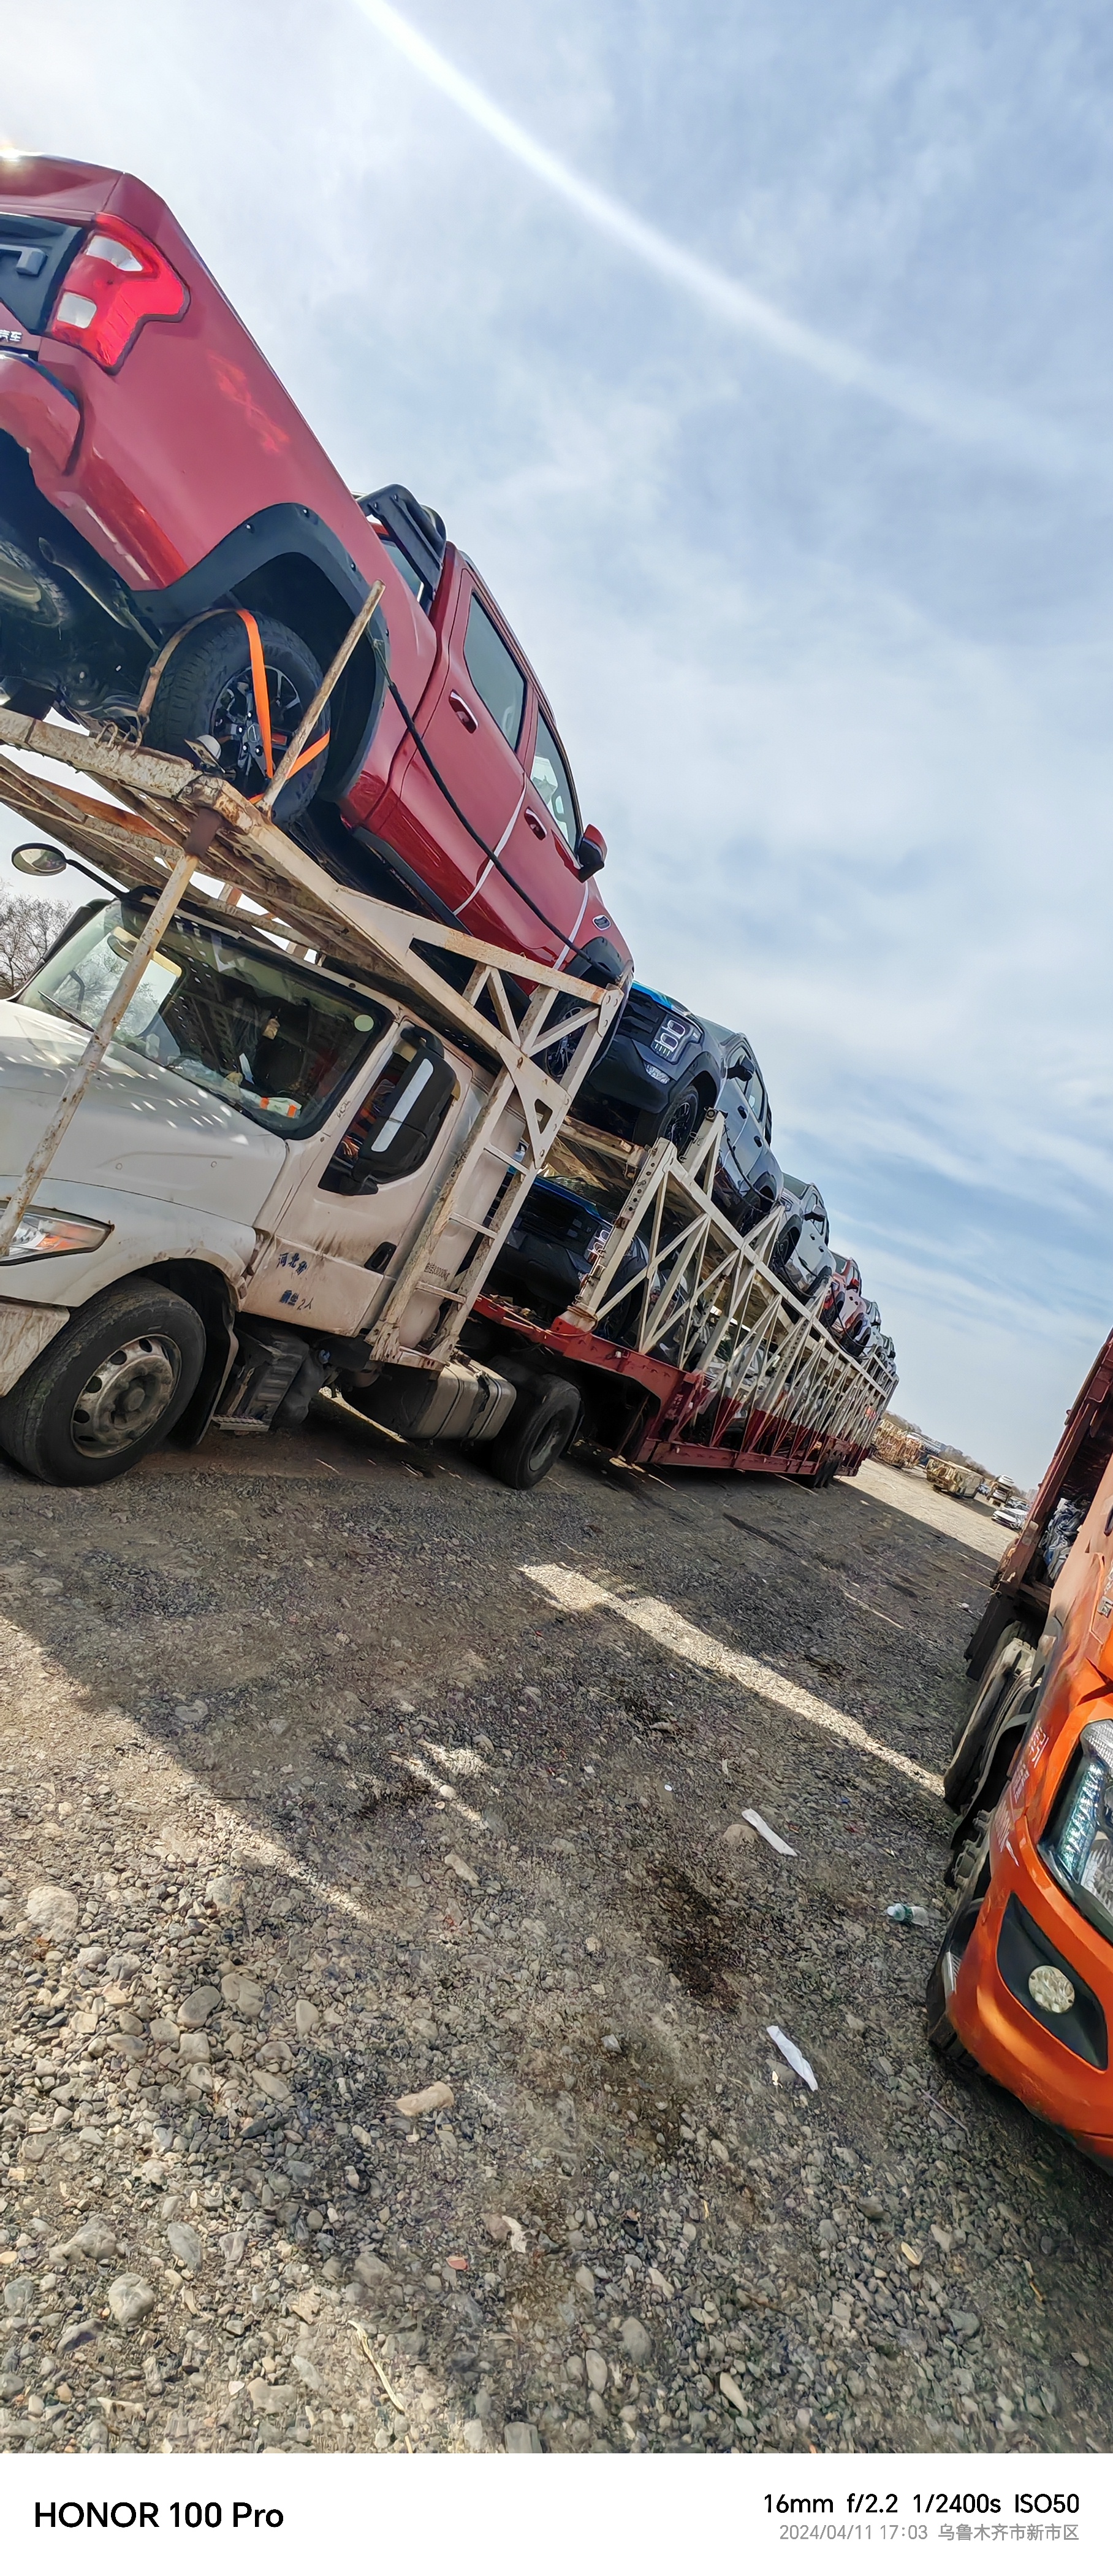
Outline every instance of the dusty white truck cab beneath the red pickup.
<path id="1" fill-rule="evenodd" d="M 149 917 L 124 894 L 75 917 L 0 1005 L 0 1195 L 49 1123 Z M 325 1383 L 376 1419 L 495 1437 L 515 1386 L 456 1363 L 386 1370 L 366 1332 L 404 1278 L 492 1074 L 345 963 L 180 909 L 0 1260 L 0 1445 L 90 1484 L 178 1425 L 304 1419 Z M 456 1193 L 433 1275 L 397 1321 L 428 1342 L 520 1159 L 508 1105 Z"/>

